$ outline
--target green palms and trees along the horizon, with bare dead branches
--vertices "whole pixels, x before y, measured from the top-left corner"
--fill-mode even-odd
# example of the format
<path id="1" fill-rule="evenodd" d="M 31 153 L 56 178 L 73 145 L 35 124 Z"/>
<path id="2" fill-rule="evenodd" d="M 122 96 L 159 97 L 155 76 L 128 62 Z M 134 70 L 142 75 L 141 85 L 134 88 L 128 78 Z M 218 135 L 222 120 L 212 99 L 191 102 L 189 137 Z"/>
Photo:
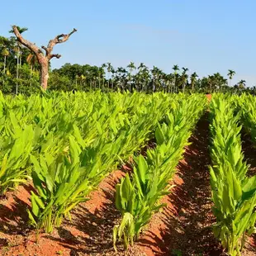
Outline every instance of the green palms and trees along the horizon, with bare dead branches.
<path id="1" fill-rule="evenodd" d="M 102 64 L 99 67 L 89 64 L 64 64 L 60 69 L 52 70 L 50 59 L 60 57 L 60 55 L 51 54 L 53 46 L 68 40 L 76 30 L 73 29 L 68 35 L 56 36 L 54 40 L 50 40 L 47 47 L 42 46 L 45 55 L 36 45 L 27 40 L 24 43 L 21 35 L 26 30 L 26 28 L 12 26 L 10 37 L 0 36 L 0 90 L 3 93 L 29 95 L 39 91 L 40 78 L 42 78 L 40 57 L 47 60 L 46 68 L 50 74 L 47 87 L 49 90 L 256 93 L 256 87 L 246 87 L 244 80 L 232 83 L 235 71 L 231 69 L 225 76 L 213 73 L 202 78 L 199 78 L 196 72 L 188 74 L 189 69 L 180 68 L 177 64 L 173 65 L 170 73 L 164 73 L 156 66 L 149 69 L 144 63 L 135 66 L 133 62 L 126 67 L 117 68 L 114 68 L 111 63 Z M 36 47 L 36 50 L 33 47 Z"/>

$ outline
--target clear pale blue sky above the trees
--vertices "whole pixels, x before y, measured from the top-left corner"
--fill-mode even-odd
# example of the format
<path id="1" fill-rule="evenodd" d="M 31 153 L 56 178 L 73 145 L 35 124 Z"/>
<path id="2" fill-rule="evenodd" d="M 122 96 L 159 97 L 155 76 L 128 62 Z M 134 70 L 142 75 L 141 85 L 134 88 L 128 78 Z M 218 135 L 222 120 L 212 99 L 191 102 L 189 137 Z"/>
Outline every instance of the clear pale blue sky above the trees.
<path id="1" fill-rule="evenodd" d="M 111 62 L 114 67 L 130 61 L 171 72 L 173 64 L 200 76 L 228 69 L 235 82 L 244 78 L 256 85 L 254 0 L 13 0 L 1 3 L 0 35 L 10 26 L 26 26 L 26 39 L 46 45 L 73 27 L 78 32 L 57 45 L 64 63 Z"/>

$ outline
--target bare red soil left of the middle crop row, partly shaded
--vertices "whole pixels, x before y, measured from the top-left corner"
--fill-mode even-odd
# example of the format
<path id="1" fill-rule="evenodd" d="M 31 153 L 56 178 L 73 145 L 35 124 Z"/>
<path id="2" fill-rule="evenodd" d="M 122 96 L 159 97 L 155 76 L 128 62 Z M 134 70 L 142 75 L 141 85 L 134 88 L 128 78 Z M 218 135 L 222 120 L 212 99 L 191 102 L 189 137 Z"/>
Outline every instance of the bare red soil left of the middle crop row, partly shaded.
<path id="1" fill-rule="evenodd" d="M 40 234 L 37 242 L 36 232 L 27 226 L 26 208 L 31 206 L 32 187 L 25 185 L 16 192 L 7 192 L 7 198 L 0 200 L 1 255 L 102 255 L 104 246 L 111 248 L 113 216 L 116 220 L 120 217 L 112 206 L 112 196 L 114 185 L 123 175 L 121 171 L 111 173 L 91 193 L 91 199 L 72 212 L 72 221 L 64 220 L 53 234 Z"/>

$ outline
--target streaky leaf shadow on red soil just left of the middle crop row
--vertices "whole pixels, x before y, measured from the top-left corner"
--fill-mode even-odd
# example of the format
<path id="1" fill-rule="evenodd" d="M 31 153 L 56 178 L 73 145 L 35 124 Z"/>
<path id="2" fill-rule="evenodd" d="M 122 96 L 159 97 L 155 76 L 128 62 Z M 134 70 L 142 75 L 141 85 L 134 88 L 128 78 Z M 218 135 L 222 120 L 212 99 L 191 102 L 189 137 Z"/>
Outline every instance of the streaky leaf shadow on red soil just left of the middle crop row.
<path id="1" fill-rule="evenodd" d="M 63 227 L 58 229 L 59 238 L 47 236 L 49 239 L 58 241 L 64 247 L 71 249 L 70 255 L 102 255 L 113 252 L 112 230 L 116 221 L 120 220 L 121 215 L 116 211 L 114 205 L 114 187 L 118 181 L 108 181 L 111 189 L 103 191 L 103 205 L 92 212 L 88 211 L 86 203 L 80 204 L 72 212 L 72 221 L 64 221 Z M 81 235 L 74 236 L 69 228 L 78 230 Z M 70 246 L 69 246 L 70 245 Z M 75 248 L 74 246 L 75 245 Z"/>

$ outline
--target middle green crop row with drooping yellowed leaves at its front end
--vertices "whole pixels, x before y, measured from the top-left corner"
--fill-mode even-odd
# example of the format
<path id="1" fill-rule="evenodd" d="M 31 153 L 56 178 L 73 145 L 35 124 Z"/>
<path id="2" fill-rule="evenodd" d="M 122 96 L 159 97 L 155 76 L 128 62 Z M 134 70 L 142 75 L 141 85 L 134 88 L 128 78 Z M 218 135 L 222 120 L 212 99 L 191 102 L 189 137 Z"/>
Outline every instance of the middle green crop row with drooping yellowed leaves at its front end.
<path id="1" fill-rule="evenodd" d="M 116 208 L 122 218 L 113 230 L 115 249 L 117 239 L 123 241 L 125 249 L 133 244 L 154 213 L 164 206 L 160 199 L 170 193 L 169 181 L 205 103 L 201 97 L 191 97 L 169 109 L 155 130 L 156 147 L 148 149 L 145 157 L 135 156 L 133 173 L 127 173 L 116 185 Z"/>

